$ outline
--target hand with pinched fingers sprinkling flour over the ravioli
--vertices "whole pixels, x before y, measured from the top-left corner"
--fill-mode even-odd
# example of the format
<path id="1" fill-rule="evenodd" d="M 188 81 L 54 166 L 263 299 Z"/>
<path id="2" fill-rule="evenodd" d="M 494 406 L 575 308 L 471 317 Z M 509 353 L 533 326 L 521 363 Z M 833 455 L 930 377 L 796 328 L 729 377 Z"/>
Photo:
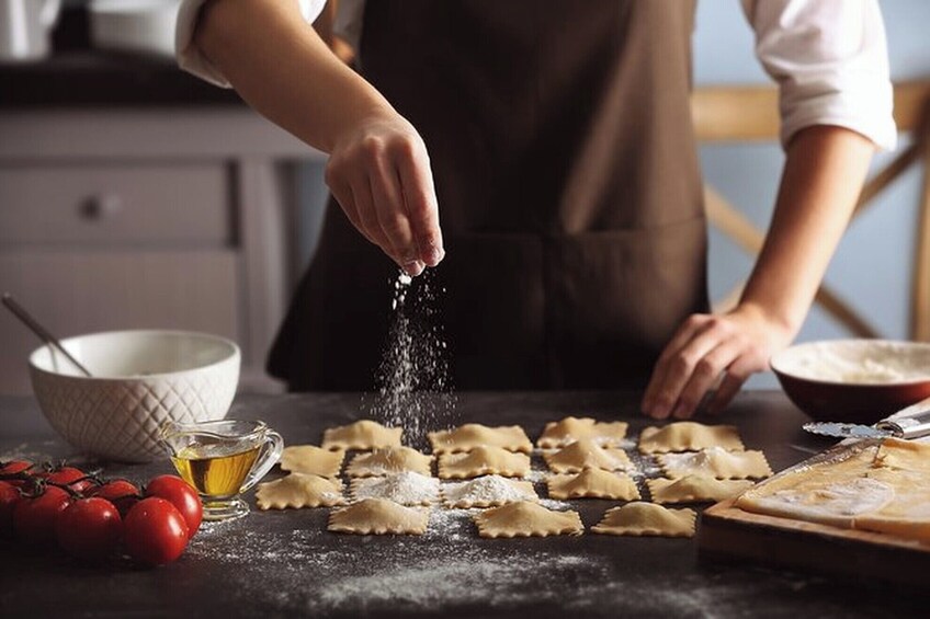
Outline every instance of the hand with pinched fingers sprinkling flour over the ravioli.
<path id="1" fill-rule="evenodd" d="M 349 220 L 410 275 L 442 260 L 430 158 L 396 113 L 355 125 L 333 144 L 326 183 Z"/>

